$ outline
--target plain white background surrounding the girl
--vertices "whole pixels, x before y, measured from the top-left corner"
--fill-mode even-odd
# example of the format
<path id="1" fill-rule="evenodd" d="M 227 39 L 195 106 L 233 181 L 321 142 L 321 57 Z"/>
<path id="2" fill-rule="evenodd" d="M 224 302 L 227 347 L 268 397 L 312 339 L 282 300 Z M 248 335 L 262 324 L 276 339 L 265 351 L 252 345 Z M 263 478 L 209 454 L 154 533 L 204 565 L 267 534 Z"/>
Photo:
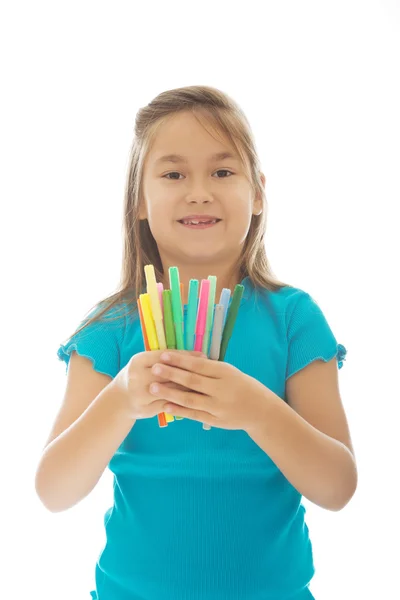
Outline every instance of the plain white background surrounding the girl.
<path id="1" fill-rule="evenodd" d="M 272 268 L 348 350 L 359 485 L 340 512 L 304 501 L 311 590 L 397 597 L 399 3 L 9 2 L 0 22 L 1 597 L 89 600 L 111 473 L 65 513 L 34 489 L 66 382 L 56 352 L 118 284 L 137 110 L 195 84 L 248 116 Z"/>

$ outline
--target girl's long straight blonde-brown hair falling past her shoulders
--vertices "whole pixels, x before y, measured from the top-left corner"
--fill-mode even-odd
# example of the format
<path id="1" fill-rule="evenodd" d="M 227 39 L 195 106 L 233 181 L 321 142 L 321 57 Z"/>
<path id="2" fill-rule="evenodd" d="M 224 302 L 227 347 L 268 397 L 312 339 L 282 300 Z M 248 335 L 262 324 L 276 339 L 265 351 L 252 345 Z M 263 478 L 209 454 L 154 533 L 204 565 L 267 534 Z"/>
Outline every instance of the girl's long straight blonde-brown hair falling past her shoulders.
<path id="1" fill-rule="evenodd" d="M 137 312 L 137 298 L 140 293 L 146 291 L 145 265 L 154 265 L 157 281 L 163 279 L 164 272 L 156 240 L 147 219 L 139 220 L 143 167 L 160 125 L 169 117 L 183 111 L 190 111 L 199 122 L 200 117 L 203 116 L 204 126 L 207 123 L 211 124 L 216 131 L 225 134 L 241 157 L 254 194 L 262 198 L 262 212 L 259 215 L 252 215 L 239 265 L 235 265 L 235 269 L 239 268 L 240 280 L 248 276 L 254 286 L 271 291 L 292 287 L 275 278 L 266 255 L 265 191 L 260 177 L 260 160 L 245 114 L 227 94 L 213 87 L 195 85 L 167 90 L 141 108 L 136 115 L 124 193 L 123 259 L 118 289 L 90 309 L 89 312 L 93 308 L 102 306 L 73 335 L 94 321 L 101 320 L 101 317 L 113 307 L 127 304 L 129 307 L 127 315 Z"/>

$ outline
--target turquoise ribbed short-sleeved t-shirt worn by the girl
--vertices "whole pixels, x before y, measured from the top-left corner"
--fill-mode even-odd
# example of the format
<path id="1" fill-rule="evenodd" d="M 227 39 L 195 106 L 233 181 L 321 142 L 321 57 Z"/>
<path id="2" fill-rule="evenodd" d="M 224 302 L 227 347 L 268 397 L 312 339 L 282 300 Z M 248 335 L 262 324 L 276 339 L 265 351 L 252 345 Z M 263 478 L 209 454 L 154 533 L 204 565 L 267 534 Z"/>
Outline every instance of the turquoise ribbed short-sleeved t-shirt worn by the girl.
<path id="1" fill-rule="evenodd" d="M 336 357 L 342 367 L 347 351 L 308 293 L 254 288 L 248 277 L 242 284 L 226 362 L 283 402 L 286 380 L 312 361 Z M 73 336 L 60 346 L 59 359 L 68 368 L 76 350 L 115 377 L 144 351 L 138 316 L 120 314 L 118 321 L 95 322 Z M 313 597 L 302 496 L 243 430 L 206 431 L 190 419 L 160 428 L 156 416 L 141 419 L 108 466 L 114 503 L 104 518 L 106 544 L 92 599 Z"/>

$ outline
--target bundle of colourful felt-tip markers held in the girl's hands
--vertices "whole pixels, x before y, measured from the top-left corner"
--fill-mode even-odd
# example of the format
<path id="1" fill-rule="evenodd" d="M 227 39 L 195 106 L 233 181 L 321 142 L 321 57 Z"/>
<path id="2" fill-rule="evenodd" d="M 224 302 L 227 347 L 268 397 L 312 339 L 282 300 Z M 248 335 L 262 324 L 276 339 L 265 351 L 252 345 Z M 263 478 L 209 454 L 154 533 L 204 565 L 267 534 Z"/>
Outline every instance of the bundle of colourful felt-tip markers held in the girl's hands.
<path id="1" fill-rule="evenodd" d="M 229 306 L 231 290 L 224 288 L 215 302 L 217 278 L 210 275 L 199 282 L 189 282 L 187 316 L 184 319 L 183 283 L 178 267 L 169 268 L 171 289 L 157 283 L 153 265 L 144 267 L 147 293 L 137 299 L 143 342 L 146 350 L 195 350 L 212 360 L 224 360 L 238 314 L 244 287 L 238 284 Z M 182 419 L 182 417 L 176 417 Z M 159 427 L 167 427 L 173 415 L 160 413 Z M 203 423 L 203 429 L 211 429 Z"/>

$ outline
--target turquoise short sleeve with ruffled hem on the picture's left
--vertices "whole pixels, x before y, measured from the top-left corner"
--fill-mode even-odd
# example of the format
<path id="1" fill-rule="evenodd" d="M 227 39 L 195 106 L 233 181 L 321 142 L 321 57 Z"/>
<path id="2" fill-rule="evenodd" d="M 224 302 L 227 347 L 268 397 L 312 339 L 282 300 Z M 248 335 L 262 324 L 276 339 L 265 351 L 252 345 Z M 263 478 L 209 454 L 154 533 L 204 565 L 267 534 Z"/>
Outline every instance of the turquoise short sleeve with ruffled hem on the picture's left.
<path id="1" fill-rule="evenodd" d="M 96 307 L 76 329 L 79 329 L 89 318 L 94 316 L 101 306 Z M 80 356 L 89 358 L 93 368 L 99 373 L 104 373 L 114 378 L 120 371 L 121 346 L 125 332 L 125 318 L 121 311 L 113 307 L 100 317 L 100 321 L 90 323 L 82 331 L 74 334 L 68 342 L 61 344 L 57 356 L 66 364 L 66 372 L 75 350 Z"/>

